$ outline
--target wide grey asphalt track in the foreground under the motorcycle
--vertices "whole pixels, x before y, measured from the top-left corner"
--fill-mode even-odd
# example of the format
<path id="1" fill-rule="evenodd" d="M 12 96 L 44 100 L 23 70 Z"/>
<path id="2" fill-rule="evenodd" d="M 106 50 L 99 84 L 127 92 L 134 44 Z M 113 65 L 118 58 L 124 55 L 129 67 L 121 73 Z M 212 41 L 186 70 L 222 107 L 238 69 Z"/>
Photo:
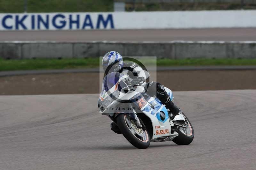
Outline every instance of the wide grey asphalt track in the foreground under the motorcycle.
<path id="1" fill-rule="evenodd" d="M 98 94 L 0 96 L 0 169 L 256 169 L 256 90 L 174 97 L 194 141 L 139 150 L 110 130 Z"/>

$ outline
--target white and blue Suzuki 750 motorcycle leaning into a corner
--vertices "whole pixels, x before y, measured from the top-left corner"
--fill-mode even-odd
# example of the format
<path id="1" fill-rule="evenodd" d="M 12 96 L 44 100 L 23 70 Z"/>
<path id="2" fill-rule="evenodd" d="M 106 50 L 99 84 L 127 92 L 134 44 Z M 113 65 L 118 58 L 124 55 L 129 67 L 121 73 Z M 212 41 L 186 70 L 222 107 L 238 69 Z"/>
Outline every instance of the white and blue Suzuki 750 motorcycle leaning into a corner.
<path id="1" fill-rule="evenodd" d="M 150 142 L 186 145 L 193 141 L 194 129 L 183 112 L 174 117 L 156 96 L 145 93 L 145 82 L 134 86 L 127 79 L 122 73 L 108 74 L 103 80 L 98 107 L 133 146 L 145 149 Z M 164 88 L 173 100 L 172 91 Z"/>

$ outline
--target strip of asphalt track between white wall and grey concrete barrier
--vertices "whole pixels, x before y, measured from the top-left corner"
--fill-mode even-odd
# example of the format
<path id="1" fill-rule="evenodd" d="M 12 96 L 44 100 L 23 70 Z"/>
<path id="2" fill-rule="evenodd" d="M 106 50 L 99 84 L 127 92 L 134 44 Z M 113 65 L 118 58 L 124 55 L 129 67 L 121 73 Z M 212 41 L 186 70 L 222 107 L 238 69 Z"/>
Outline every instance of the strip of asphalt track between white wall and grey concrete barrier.
<path id="1" fill-rule="evenodd" d="M 256 41 L 256 28 L 0 31 L 0 41 Z"/>

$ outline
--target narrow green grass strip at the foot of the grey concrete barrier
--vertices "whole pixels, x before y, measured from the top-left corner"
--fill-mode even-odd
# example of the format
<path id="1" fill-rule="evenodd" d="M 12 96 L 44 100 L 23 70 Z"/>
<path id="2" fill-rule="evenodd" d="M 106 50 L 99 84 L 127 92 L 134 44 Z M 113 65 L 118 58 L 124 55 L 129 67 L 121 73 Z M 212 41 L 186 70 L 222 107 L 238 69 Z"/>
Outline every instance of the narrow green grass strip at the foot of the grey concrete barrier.
<path id="1" fill-rule="evenodd" d="M 154 63 L 154 61 L 147 61 Z M 157 59 L 157 66 L 212 66 L 212 65 L 256 65 L 256 59 Z M 81 59 L 23 59 L 5 60 L 0 58 L 0 71 L 74 69 L 99 67 L 99 58 Z"/>

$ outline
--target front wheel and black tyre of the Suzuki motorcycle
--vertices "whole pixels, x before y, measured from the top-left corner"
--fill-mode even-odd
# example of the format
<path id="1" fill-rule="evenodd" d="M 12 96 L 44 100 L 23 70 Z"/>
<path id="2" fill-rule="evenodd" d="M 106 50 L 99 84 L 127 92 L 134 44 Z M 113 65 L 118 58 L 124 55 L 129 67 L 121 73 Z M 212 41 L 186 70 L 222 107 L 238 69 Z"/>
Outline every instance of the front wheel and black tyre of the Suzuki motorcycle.
<path id="1" fill-rule="evenodd" d="M 150 144 L 150 137 L 145 128 L 143 128 L 145 130 L 137 128 L 135 120 L 133 120 L 129 115 L 120 114 L 117 116 L 116 120 L 120 131 L 128 142 L 138 149 L 148 148 Z"/>

